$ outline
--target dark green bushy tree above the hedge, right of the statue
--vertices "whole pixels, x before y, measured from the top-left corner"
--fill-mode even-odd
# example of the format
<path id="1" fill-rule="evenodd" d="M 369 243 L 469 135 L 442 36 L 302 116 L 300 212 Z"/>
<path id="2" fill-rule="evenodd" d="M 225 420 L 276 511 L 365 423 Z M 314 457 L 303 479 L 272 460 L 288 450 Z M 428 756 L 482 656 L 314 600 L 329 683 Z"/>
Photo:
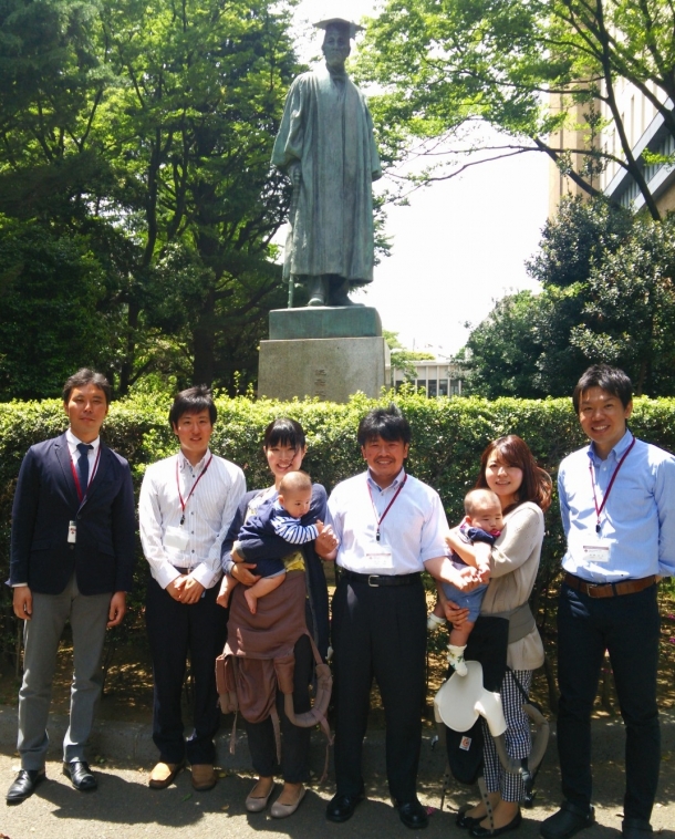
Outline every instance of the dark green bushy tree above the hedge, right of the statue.
<path id="1" fill-rule="evenodd" d="M 564 199 L 529 272 L 542 292 L 498 301 L 469 336 L 472 392 L 562 396 L 605 362 L 638 394 L 675 393 L 675 216 Z"/>

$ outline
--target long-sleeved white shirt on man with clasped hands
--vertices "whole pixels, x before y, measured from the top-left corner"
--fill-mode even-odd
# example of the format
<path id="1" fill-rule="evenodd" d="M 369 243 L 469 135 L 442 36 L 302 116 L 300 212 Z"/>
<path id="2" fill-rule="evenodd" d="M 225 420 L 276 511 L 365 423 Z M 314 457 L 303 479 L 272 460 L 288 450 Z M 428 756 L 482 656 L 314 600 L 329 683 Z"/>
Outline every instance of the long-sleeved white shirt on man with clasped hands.
<path id="1" fill-rule="evenodd" d="M 207 450 L 191 466 L 179 452 L 148 466 L 143 478 L 138 501 L 141 542 L 150 573 L 163 589 L 180 576 L 178 568 L 188 569 L 189 576 L 206 589 L 221 577 L 220 546 L 246 493 L 246 478 L 233 463 L 210 458 Z M 184 536 L 184 549 L 165 545 L 169 528 Z"/>

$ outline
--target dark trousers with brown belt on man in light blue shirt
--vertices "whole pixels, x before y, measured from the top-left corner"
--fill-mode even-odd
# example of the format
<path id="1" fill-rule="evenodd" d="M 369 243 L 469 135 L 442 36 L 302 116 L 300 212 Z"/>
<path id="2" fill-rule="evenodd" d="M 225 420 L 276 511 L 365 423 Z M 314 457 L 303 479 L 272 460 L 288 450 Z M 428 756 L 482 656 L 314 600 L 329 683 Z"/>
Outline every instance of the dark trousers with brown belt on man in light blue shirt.
<path id="1" fill-rule="evenodd" d="M 656 586 L 595 599 L 562 586 L 558 608 L 558 753 L 568 801 L 591 804 L 591 711 L 605 650 L 626 729 L 624 817 L 650 820 L 661 762 Z"/>

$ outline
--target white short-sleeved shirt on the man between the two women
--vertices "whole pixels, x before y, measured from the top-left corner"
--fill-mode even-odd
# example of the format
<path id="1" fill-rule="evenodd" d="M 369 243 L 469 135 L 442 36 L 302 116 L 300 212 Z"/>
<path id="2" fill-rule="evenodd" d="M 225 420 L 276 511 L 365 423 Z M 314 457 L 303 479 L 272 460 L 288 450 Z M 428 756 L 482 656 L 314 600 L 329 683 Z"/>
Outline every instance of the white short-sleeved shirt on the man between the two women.
<path id="1" fill-rule="evenodd" d="M 365 472 L 343 480 L 333 489 L 328 521 L 340 539 L 339 566 L 356 573 L 408 574 L 424 571 L 427 560 L 446 556 L 444 536 L 448 522 L 445 510 L 438 493 L 422 480 L 408 475 L 382 519 L 405 477 L 402 469 L 391 486 L 381 489 Z M 378 520 L 380 542 L 376 541 Z M 376 555 L 378 546 L 391 549 L 391 568 L 372 563 L 371 558 Z"/>

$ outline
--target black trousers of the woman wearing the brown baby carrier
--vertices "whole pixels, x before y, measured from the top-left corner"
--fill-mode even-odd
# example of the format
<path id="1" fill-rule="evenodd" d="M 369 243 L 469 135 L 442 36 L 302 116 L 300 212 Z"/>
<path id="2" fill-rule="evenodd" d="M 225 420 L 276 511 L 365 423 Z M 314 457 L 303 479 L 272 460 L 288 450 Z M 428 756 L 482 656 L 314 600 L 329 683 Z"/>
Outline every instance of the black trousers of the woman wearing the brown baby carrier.
<path id="1" fill-rule="evenodd" d="M 302 635 L 294 646 L 295 671 L 293 673 L 293 705 L 297 714 L 311 707 L 310 682 L 314 656 L 310 640 Z M 289 784 L 303 784 L 310 777 L 311 728 L 299 728 L 289 722 L 283 711 L 283 694 L 277 692 L 277 713 L 281 726 L 281 774 Z M 277 768 L 277 744 L 271 717 L 261 723 L 245 721 L 249 752 L 253 768 L 259 776 L 269 778 Z"/>

